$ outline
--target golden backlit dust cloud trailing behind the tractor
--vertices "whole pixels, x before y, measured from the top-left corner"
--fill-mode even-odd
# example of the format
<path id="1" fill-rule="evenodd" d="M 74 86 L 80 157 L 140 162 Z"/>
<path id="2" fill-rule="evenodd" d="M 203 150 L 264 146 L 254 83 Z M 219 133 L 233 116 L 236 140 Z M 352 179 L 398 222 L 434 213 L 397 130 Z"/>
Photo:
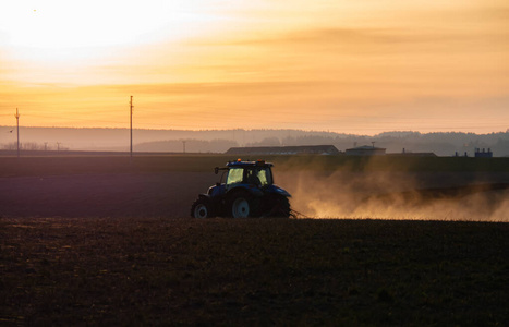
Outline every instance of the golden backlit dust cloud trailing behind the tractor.
<path id="1" fill-rule="evenodd" d="M 277 183 L 303 217 L 509 221 L 507 173 L 287 170 Z M 502 182 L 500 182 L 502 181 Z"/>

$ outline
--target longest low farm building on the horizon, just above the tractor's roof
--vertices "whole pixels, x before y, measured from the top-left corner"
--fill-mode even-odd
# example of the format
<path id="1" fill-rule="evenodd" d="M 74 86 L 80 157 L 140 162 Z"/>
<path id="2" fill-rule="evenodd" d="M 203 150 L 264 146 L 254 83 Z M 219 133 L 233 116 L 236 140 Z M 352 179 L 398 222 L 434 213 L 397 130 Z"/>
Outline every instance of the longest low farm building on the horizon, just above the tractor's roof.
<path id="1" fill-rule="evenodd" d="M 334 145 L 231 147 L 227 155 L 339 155 Z"/>

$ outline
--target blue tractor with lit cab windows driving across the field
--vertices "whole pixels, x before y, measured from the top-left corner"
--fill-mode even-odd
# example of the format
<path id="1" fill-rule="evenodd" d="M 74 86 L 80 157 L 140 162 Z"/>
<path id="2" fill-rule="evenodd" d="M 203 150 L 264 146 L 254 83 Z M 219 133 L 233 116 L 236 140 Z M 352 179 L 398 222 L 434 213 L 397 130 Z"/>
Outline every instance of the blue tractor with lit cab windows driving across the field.
<path id="1" fill-rule="evenodd" d="M 216 167 L 221 179 L 207 194 L 199 194 L 191 216 L 208 217 L 284 217 L 291 215 L 290 193 L 274 184 L 272 164 L 264 160 L 230 161 Z"/>

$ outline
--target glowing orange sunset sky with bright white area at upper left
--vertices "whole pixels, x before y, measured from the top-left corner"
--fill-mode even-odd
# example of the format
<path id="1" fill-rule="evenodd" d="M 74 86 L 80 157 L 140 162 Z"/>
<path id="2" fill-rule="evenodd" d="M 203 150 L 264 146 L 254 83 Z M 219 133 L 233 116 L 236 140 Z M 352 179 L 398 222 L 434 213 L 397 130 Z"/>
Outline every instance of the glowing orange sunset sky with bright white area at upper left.
<path id="1" fill-rule="evenodd" d="M 509 2 L 0 3 L 0 125 L 129 128 L 131 95 L 134 128 L 506 131 Z"/>

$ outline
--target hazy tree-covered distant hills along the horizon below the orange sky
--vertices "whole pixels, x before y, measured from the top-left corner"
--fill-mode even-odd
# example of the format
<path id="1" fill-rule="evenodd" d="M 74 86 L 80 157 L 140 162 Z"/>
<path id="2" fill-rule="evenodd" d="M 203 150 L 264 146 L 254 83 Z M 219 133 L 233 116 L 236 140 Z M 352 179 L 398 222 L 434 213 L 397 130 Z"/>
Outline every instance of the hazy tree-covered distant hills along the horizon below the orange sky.
<path id="1" fill-rule="evenodd" d="M 0 126 L 0 148 L 15 148 L 13 126 Z M 13 131 L 13 132 L 11 132 Z M 22 148 L 33 150 L 129 150 L 129 129 L 20 128 Z M 509 156 L 509 130 L 475 134 L 462 132 L 384 132 L 374 136 L 301 130 L 134 130 L 135 152 L 223 153 L 235 146 L 300 146 L 330 144 L 343 152 L 361 145 L 387 148 L 387 153 L 455 153 L 473 156 L 489 148 L 495 157 Z"/>

